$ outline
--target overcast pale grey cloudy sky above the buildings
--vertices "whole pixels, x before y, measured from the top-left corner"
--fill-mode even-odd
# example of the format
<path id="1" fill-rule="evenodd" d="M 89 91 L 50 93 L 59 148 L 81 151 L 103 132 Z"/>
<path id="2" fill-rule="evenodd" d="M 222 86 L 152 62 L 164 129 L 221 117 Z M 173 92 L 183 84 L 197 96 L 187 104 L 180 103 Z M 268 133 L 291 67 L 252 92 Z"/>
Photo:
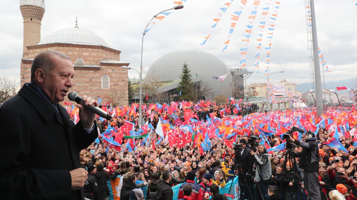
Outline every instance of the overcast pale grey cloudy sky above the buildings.
<path id="1" fill-rule="evenodd" d="M 210 33 L 213 19 L 217 18 L 220 7 L 231 0 L 187 0 L 181 10 L 173 10 L 165 19 L 147 32 L 144 39 L 144 70 L 161 56 L 175 51 L 198 50 L 200 43 Z M 251 42 L 247 54 L 247 68 L 254 72 L 254 53 L 257 51 L 256 32 L 261 17 L 262 6 L 275 1 L 261 0 L 254 23 Z M 41 25 L 41 38 L 51 33 L 75 26 L 78 17 L 80 28 L 90 30 L 102 37 L 111 48 L 121 51 L 120 60 L 129 62 L 130 67 L 139 69 L 141 33 L 153 15 L 175 4 L 173 0 L 46 0 L 46 11 Z M 240 51 L 243 48 L 248 12 L 252 10 L 252 0 L 248 0 L 241 18 L 231 37 L 226 53 L 222 55 L 223 42 L 227 41 L 230 15 L 242 6 L 233 0 L 221 21 L 213 30 L 202 51 L 211 53 L 230 67 L 240 67 Z M 20 79 L 20 59 L 23 43 L 23 19 L 18 0 L 3 0 L 0 7 L 0 74 Z M 330 68 L 325 73 L 325 81 L 335 81 L 357 77 L 357 6 L 353 0 L 316 0 L 316 20 L 318 46 Z M 270 13 L 271 14 L 271 13 Z M 273 83 L 287 79 L 293 83 L 310 82 L 309 55 L 304 0 L 281 0 L 271 46 L 270 73 Z M 265 31 L 263 40 L 266 40 Z M 267 42 L 263 41 L 262 45 Z M 266 46 L 265 46 L 266 47 Z M 261 51 L 260 73 L 253 73 L 247 84 L 263 82 L 263 49 Z M 266 54 L 265 54 L 266 55 Z M 222 74 L 217 74 L 222 75 Z M 138 77 L 130 70 L 129 77 Z M 321 74 L 322 77 L 322 74 Z"/>

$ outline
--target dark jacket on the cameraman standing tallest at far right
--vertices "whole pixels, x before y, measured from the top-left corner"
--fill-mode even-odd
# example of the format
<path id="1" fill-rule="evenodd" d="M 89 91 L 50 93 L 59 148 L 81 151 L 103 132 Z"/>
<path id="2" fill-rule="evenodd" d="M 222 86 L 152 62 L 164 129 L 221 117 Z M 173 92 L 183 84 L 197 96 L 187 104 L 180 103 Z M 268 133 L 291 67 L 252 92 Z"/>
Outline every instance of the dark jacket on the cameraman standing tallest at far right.
<path id="1" fill-rule="evenodd" d="M 302 147 L 300 154 L 300 168 L 310 172 L 318 172 L 318 162 L 320 157 L 318 155 L 318 146 L 316 143 L 317 138 L 312 137 L 305 142 L 295 140 L 297 146 Z"/>

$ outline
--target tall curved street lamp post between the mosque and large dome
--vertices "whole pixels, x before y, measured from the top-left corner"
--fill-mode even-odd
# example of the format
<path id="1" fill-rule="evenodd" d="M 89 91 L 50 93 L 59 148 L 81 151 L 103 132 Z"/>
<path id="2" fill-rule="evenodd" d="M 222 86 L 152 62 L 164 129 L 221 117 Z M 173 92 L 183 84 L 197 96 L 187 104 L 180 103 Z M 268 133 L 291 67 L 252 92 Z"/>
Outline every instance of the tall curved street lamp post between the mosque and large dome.
<path id="1" fill-rule="evenodd" d="M 182 8 L 183 8 L 183 5 L 177 5 L 177 6 L 174 6 L 174 7 L 170 8 L 170 9 L 163 10 L 163 11 L 159 12 L 158 14 L 154 15 L 154 17 L 152 17 L 152 19 L 150 20 L 150 22 L 147 23 L 147 25 L 146 25 L 146 27 L 145 27 L 145 29 L 144 29 L 144 32 L 142 33 L 140 72 L 139 72 L 138 70 L 134 69 L 134 70 L 136 70 L 136 71 L 139 73 L 139 77 L 140 77 L 140 93 L 139 93 L 139 95 L 140 95 L 139 115 L 140 115 L 140 116 L 139 116 L 139 128 L 141 128 L 141 125 L 142 125 L 142 49 L 143 49 L 143 44 L 144 44 L 144 36 L 145 36 L 145 34 L 146 34 L 146 28 L 149 26 L 149 24 L 151 23 L 151 21 L 152 21 L 155 17 L 157 17 L 157 15 L 161 14 L 162 12 L 165 12 L 165 11 L 168 11 L 168 10 L 172 10 L 172 9 L 178 10 L 178 9 L 182 9 Z M 133 69 L 133 68 L 126 67 L 126 66 L 123 66 L 122 68 L 124 68 L 124 69 Z"/>

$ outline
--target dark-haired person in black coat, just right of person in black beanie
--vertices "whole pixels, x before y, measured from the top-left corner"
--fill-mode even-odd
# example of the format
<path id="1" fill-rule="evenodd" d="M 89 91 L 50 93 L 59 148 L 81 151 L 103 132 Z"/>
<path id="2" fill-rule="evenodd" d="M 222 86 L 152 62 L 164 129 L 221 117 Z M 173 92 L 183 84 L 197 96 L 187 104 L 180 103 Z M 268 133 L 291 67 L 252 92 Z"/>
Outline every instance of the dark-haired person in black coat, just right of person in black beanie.
<path id="1" fill-rule="evenodd" d="M 97 164 L 96 173 L 94 174 L 94 177 L 97 179 L 98 184 L 98 199 L 107 200 L 109 196 L 109 188 L 107 181 L 110 179 L 110 177 L 107 173 L 105 173 L 102 163 Z"/>

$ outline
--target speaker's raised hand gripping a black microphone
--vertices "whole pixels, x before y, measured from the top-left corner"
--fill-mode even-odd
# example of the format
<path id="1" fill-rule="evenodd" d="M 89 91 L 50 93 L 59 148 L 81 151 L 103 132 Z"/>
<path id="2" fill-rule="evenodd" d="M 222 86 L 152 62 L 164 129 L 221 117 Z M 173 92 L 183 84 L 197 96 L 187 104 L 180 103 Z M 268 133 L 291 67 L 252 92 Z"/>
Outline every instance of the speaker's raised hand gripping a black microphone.
<path id="1" fill-rule="evenodd" d="M 107 112 L 98 107 L 98 102 L 94 99 L 87 97 L 86 95 L 79 96 L 76 92 L 68 93 L 68 99 L 75 101 L 77 107 L 79 108 L 79 116 L 83 127 L 91 128 L 95 120 L 95 114 L 110 120 L 111 116 Z"/>

